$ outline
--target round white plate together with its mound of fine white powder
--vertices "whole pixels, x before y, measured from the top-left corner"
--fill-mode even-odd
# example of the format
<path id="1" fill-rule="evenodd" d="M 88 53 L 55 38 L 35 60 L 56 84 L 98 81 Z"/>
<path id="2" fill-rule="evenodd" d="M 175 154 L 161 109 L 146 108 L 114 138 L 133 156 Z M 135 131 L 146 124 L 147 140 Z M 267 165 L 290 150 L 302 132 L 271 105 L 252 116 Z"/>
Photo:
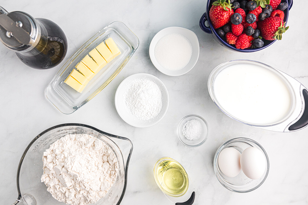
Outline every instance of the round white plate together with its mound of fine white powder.
<path id="1" fill-rule="evenodd" d="M 157 77 L 137 73 L 125 78 L 115 93 L 115 108 L 120 117 L 134 127 L 158 123 L 166 114 L 169 95 Z"/>

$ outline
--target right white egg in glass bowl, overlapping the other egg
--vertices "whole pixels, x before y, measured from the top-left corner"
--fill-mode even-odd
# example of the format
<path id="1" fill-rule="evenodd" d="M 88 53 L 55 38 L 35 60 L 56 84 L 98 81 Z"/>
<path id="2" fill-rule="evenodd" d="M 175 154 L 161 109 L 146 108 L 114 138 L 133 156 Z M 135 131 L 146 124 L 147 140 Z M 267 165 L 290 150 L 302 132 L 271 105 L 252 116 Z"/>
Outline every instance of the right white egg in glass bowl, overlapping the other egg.
<path id="1" fill-rule="evenodd" d="M 266 168 L 266 160 L 263 153 L 255 147 L 246 148 L 241 154 L 241 168 L 250 179 L 259 179 Z"/>

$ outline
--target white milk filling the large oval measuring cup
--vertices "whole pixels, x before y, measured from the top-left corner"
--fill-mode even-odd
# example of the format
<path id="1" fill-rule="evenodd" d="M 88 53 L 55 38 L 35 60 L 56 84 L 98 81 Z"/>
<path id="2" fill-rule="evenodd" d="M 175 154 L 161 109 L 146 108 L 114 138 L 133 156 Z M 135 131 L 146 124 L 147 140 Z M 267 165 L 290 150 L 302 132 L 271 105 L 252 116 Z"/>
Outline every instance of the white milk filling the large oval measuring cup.
<path id="1" fill-rule="evenodd" d="M 286 82 L 261 65 L 230 65 L 217 74 L 213 91 L 219 107 L 249 124 L 279 123 L 292 107 Z"/>

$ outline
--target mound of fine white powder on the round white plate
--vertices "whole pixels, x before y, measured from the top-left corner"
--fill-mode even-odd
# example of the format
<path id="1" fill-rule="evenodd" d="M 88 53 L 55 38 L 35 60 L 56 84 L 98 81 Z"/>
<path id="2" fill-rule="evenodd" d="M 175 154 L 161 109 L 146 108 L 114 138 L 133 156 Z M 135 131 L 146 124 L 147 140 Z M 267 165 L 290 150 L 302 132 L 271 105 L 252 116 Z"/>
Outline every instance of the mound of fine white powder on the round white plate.
<path id="1" fill-rule="evenodd" d="M 146 77 L 128 81 L 123 97 L 127 109 L 139 120 L 153 119 L 163 107 L 160 87 Z"/>

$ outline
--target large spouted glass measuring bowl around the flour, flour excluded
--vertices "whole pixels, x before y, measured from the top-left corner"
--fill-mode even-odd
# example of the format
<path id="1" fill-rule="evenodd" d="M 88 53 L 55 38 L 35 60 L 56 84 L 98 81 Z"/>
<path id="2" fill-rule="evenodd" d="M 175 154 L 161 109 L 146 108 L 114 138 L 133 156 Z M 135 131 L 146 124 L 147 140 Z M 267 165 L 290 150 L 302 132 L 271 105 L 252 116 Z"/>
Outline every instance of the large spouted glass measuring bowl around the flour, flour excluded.
<path id="1" fill-rule="evenodd" d="M 128 163 L 132 154 L 132 142 L 124 137 L 108 134 L 84 124 L 61 124 L 45 130 L 36 136 L 26 148 L 18 165 L 18 199 L 13 205 L 65 205 L 52 197 L 46 185 L 41 182 L 43 174 L 43 152 L 59 138 L 67 134 L 88 134 L 103 140 L 115 153 L 119 163 L 118 176 L 96 205 L 120 204 L 126 189 Z"/>

